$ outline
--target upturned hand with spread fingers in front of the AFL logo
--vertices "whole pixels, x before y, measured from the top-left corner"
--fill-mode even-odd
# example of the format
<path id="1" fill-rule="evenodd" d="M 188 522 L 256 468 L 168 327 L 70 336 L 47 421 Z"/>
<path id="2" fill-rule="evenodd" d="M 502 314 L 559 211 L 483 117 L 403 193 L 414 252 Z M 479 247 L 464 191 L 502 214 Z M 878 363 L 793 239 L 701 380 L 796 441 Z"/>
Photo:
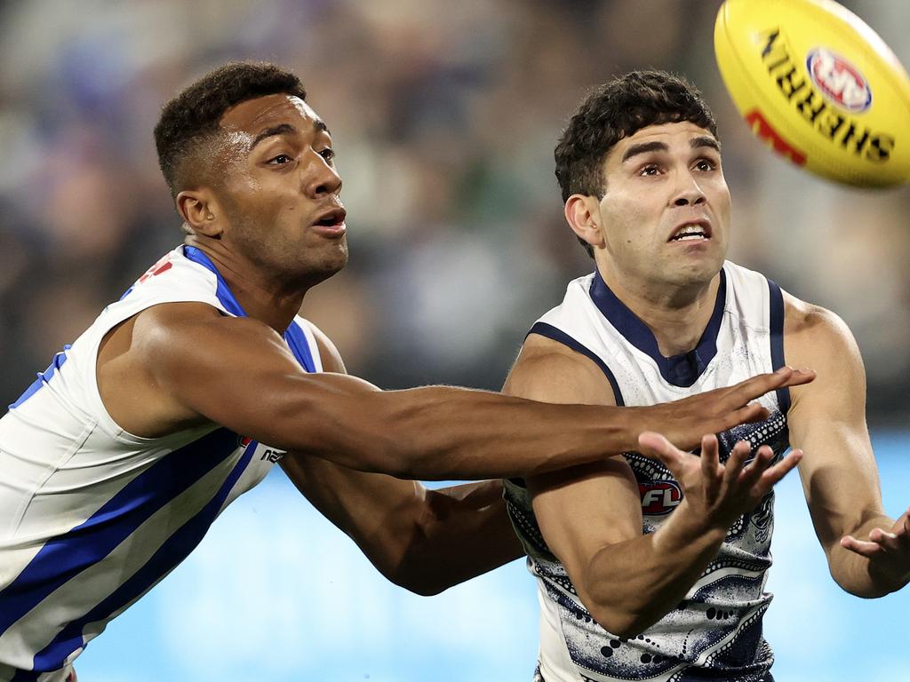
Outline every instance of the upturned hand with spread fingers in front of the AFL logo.
<path id="1" fill-rule="evenodd" d="M 664 436 L 652 432 L 639 436 L 642 453 L 660 459 L 682 486 L 683 502 L 711 527 L 729 528 L 751 511 L 769 490 L 803 458 L 801 450 L 771 465 L 771 447 L 761 446 L 746 464 L 751 449 L 738 442 L 721 464 L 717 436 L 703 436 L 701 456 L 685 452 Z"/>

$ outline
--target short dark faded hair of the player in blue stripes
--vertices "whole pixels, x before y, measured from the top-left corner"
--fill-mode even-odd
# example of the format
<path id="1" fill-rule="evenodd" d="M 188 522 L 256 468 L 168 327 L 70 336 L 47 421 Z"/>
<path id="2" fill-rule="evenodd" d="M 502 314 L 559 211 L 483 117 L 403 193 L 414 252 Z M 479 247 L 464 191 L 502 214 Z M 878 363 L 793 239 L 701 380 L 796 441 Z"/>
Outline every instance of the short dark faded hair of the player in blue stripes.
<path id="1" fill-rule="evenodd" d="M 248 99 L 279 93 L 307 98 L 297 75 L 266 62 L 229 62 L 188 85 L 161 110 L 155 126 L 158 165 L 171 196 L 197 181 L 187 161 L 218 133 L 227 109 Z"/>

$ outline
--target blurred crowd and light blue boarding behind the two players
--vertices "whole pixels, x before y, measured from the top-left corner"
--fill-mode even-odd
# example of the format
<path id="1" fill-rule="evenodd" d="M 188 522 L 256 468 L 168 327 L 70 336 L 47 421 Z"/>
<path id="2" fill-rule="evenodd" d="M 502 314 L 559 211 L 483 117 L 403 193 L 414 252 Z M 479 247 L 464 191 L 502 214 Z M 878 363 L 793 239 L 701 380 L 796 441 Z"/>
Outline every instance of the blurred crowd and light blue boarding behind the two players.
<path id="1" fill-rule="evenodd" d="M 910 64 L 910 4 L 844 3 Z M 733 260 L 853 328 L 897 515 L 910 502 L 910 191 L 805 176 L 738 120 L 713 62 L 719 0 L 30 0 L 0 5 L 0 399 L 180 240 L 151 129 L 228 59 L 295 68 L 328 122 L 348 269 L 305 314 L 379 386 L 496 389 L 531 322 L 591 268 L 561 218 L 552 146 L 588 85 L 658 66 L 717 115 Z M 356 418 L 356 416 L 352 416 Z M 767 637 L 780 679 L 900 679 L 907 594 L 863 602 L 824 567 L 784 482 Z M 99 680 L 527 680 L 520 562 L 440 597 L 385 583 L 280 475 L 80 658 Z M 903 647 L 903 648 L 902 648 Z"/>

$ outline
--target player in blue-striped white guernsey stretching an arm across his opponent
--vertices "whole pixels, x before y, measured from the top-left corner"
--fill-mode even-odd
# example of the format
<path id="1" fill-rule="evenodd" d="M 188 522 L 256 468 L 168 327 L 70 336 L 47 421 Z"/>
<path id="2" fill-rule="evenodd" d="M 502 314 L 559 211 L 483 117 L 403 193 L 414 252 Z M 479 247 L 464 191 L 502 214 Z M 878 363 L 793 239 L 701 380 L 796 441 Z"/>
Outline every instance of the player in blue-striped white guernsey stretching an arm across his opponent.
<path id="1" fill-rule="evenodd" d="M 231 64 L 156 127 L 185 243 L 0 420 L 0 680 L 63 680 L 107 622 L 280 461 L 389 579 L 438 592 L 518 557 L 501 484 L 660 429 L 682 446 L 766 416 L 783 369 L 639 410 L 469 389 L 380 391 L 298 317 L 348 258 L 328 127 L 295 75 Z M 289 453 L 289 454 L 288 454 Z"/>

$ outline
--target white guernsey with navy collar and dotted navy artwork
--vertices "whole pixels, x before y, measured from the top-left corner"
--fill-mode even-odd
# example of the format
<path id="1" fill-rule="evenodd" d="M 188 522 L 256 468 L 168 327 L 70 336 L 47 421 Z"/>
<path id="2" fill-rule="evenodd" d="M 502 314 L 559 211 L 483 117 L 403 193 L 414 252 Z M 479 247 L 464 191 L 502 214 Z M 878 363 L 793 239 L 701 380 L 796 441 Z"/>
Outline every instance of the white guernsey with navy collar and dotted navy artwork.
<path id="1" fill-rule="evenodd" d="M 713 315 L 698 346 L 661 356 L 651 331 L 594 273 L 574 280 L 561 306 L 531 328 L 570 346 L 601 367 L 620 406 L 653 405 L 731 386 L 784 365 L 784 306 L 780 289 L 762 275 L 724 263 Z M 789 392 L 763 396 L 771 413 L 761 424 L 721 435 L 725 460 L 738 440 L 773 447 L 775 460 L 788 447 Z M 642 497 L 644 533 L 652 533 L 682 498 L 660 462 L 626 453 Z M 537 577 L 541 602 L 539 679 L 689 680 L 757 682 L 773 662 L 762 637 L 771 601 L 764 591 L 771 566 L 773 491 L 753 513 L 740 517 L 717 557 L 678 607 L 632 639 L 600 627 L 581 604 L 565 568 L 551 554 L 521 481 L 506 483 L 512 523 Z"/>

